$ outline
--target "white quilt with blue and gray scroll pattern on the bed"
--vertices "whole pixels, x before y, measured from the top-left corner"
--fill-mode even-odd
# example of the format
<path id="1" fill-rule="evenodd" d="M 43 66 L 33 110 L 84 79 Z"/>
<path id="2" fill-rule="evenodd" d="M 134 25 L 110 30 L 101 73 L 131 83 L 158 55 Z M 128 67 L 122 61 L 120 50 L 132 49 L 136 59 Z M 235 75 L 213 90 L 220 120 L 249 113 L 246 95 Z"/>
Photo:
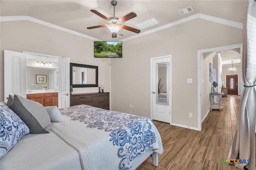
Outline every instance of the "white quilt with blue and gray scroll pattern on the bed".
<path id="1" fill-rule="evenodd" d="M 84 169 L 130 169 L 147 149 L 163 152 L 160 134 L 147 118 L 88 105 L 60 112 L 65 121 L 52 123 L 52 131 L 78 150 Z"/>

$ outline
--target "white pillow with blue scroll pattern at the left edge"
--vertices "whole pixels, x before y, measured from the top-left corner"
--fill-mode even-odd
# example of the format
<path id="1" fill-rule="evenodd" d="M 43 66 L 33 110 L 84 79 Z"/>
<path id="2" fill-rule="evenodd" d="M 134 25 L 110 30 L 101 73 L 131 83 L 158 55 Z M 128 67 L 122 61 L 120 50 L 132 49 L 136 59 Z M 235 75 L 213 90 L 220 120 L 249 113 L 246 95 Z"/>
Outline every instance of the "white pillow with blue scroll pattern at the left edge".
<path id="1" fill-rule="evenodd" d="M 0 102 L 0 158 L 29 132 L 29 128 L 20 117 Z"/>

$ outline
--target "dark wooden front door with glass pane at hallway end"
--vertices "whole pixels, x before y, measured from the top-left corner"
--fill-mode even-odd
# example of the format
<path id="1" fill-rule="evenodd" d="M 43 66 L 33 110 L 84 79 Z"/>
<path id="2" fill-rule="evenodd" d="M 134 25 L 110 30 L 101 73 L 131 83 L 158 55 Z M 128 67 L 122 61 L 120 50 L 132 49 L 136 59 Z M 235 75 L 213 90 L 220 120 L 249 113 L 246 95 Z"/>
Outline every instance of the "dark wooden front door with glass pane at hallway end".
<path id="1" fill-rule="evenodd" d="M 226 75 L 228 95 L 238 95 L 238 75 Z"/>

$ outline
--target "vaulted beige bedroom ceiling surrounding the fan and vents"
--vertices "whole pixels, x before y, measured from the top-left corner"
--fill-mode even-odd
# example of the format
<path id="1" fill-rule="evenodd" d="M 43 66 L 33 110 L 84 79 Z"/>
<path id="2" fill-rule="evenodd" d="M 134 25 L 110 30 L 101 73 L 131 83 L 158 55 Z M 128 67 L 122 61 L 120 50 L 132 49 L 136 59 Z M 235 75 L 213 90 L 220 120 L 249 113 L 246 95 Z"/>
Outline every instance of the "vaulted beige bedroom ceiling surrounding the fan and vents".
<path id="1" fill-rule="evenodd" d="M 121 18 L 130 12 L 136 17 L 124 22 L 124 25 L 136 27 L 137 24 L 155 18 L 159 24 L 141 29 L 139 34 L 160 28 L 198 14 L 220 18 L 242 24 L 247 0 L 117 0 L 115 16 Z M 192 7 L 190 13 L 180 15 L 184 8 Z M 216 10 L 218 9 L 218 10 Z M 1 0 L 0 16 L 29 16 L 46 23 L 54 24 L 92 38 L 110 41 L 112 34 L 106 27 L 86 29 L 90 26 L 108 24 L 99 16 L 90 12 L 97 10 L 107 18 L 113 16 L 111 0 Z M 2 20 L 2 18 L 1 18 Z M 139 34 L 128 30 L 120 30 L 118 34 L 125 36 L 115 38 L 116 41 Z"/>

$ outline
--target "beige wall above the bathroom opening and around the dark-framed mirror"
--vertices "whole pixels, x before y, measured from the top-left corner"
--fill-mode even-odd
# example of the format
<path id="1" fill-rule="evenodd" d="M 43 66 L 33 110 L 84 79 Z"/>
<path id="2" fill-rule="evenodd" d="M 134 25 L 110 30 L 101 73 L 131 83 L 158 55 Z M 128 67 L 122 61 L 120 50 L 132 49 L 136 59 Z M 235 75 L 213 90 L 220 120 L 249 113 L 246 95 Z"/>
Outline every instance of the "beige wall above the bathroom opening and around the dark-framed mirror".
<path id="1" fill-rule="evenodd" d="M 0 100 L 4 99 L 4 49 L 31 51 L 60 57 L 70 57 L 71 63 L 99 67 L 98 83 L 110 91 L 108 62 L 93 57 L 93 41 L 30 21 L 1 22 Z M 73 93 L 98 92 L 98 87 L 74 88 Z"/>

